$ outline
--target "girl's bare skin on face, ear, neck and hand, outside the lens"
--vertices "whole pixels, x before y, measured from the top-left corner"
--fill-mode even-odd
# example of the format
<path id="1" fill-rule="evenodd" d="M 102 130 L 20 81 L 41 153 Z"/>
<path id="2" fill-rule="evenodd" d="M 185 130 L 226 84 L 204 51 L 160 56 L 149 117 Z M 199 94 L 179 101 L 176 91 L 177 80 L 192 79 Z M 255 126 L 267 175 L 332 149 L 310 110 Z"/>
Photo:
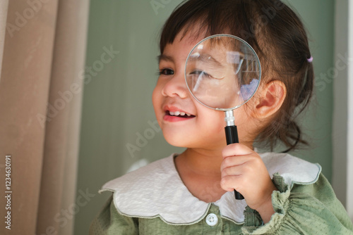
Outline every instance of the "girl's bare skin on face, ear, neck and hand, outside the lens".
<path id="1" fill-rule="evenodd" d="M 160 59 L 160 77 L 152 94 L 152 103 L 164 138 L 186 151 L 175 158 L 175 165 L 189 191 L 205 202 L 220 199 L 236 189 L 250 208 L 257 210 L 266 223 L 273 215 L 271 193 L 275 185 L 261 157 L 253 151 L 253 141 L 285 99 L 282 82 L 272 80 L 259 87 L 256 96 L 234 110 L 241 144 L 226 146 L 222 111 L 206 108 L 193 99 L 186 87 L 186 58 L 203 37 L 179 33 L 167 44 Z M 170 112 L 189 113 L 190 118 L 176 118 Z"/>

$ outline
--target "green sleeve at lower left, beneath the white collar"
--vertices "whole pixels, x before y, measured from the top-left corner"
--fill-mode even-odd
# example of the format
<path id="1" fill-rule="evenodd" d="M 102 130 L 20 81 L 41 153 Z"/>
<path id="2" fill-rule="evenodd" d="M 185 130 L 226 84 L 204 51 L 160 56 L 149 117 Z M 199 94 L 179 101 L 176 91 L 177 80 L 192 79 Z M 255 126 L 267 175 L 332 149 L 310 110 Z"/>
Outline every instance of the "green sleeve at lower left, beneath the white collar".
<path id="1" fill-rule="evenodd" d="M 90 235 L 138 234 L 138 219 L 120 215 L 112 196 L 90 224 Z"/>

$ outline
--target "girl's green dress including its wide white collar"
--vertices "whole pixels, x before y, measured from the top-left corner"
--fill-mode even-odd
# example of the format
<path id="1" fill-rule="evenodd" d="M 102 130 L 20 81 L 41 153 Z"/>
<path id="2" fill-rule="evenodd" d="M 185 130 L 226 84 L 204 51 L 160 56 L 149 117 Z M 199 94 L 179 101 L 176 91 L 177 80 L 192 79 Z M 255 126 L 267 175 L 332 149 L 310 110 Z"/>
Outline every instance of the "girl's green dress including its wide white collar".
<path id="1" fill-rule="evenodd" d="M 284 153 L 259 153 L 278 191 L 275 214 L 261 216 L 227 192 L 214 203 L 182 183 L 174 155 L 104 184 L 113 195 L 90 234 L 353 234 L 353 224 L 318 164 Z"/>

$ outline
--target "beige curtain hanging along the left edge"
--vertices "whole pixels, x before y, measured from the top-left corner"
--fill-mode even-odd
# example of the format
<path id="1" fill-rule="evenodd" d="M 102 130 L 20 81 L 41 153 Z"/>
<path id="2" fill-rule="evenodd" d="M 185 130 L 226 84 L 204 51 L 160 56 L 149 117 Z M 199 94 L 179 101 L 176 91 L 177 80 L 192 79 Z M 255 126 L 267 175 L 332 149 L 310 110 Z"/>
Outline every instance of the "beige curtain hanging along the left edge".
<path id="1" fill-rule="evenodd" d="M 73 234 L 88 2 L 0 1 L 0 234 Z"/>

